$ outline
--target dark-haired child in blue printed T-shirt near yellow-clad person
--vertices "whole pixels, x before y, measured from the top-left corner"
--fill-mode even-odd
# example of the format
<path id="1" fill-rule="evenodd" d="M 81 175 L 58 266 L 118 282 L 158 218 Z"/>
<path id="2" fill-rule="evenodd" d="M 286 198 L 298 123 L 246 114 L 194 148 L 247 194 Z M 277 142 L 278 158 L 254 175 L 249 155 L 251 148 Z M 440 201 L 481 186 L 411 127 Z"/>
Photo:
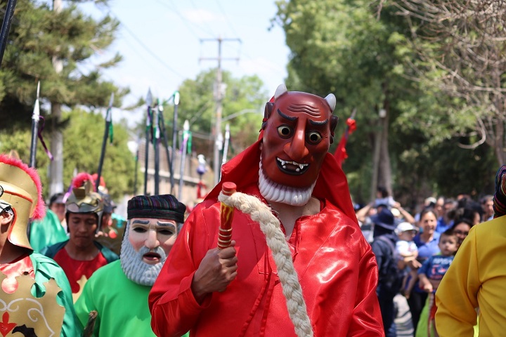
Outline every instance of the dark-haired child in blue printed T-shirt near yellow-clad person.
<path id="1" fill-rule="evenodd" d="M 439 336 L 436 331 L 436 324 L 434 324 L 434 316 L 437 310 L 436 302 L 434 301 L 434 293 L 436 293 L 441 279 L 443 279 L 446 270 L 448 270 L 448 267 L 450 267 L 455 257 L 455 252 L 458 249 L 457 235 L 455 235 L 452 230 L 446 230 L 446 232 L 443 232 L 441 237 L 439 237 L 438 246 L 441 253 L 425 260 L 422 267 L 418 270 L 420 289 L 427 291 L 429 297 L 425 304 L 426 308 L 424 308 L 424 312 L 427 314 L 427 321 L 420 317 L 416 336 Z M 422 312 L 422 316 L 424 312 Z"/>

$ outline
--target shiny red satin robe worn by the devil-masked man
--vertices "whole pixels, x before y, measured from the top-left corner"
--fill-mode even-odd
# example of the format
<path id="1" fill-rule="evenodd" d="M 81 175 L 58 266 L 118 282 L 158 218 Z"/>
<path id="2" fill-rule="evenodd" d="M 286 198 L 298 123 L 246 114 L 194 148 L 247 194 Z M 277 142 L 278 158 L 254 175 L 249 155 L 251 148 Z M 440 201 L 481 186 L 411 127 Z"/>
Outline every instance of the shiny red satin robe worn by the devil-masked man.
<path id="1" fill-rule="evenodd" d="M 256 184 L 240 192 L 256 195 Z M 199 305 L 190 285 L 208 249 L 216 247 L 219 203 L 190 213 L 162 268 L 149 302 L 157 336 L 296 336 L 272 253 L 260 225 L 235 211 L 238 277 Z M 288 244 L 314 336 L 384 336 L 377 302 L 377 265 L 354 220 L 330 202 L 295 223 Z"/>

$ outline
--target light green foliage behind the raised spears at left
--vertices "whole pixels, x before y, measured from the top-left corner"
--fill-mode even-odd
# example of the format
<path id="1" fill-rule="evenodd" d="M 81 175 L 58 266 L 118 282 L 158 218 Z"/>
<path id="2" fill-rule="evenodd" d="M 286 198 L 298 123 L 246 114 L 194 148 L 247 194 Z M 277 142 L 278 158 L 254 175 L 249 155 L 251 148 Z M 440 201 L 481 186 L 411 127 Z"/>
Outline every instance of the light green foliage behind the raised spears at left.
<path id="1" fill-rule="evenodd" d="M 69 121 L 63 131 L 65 143 L 63 157 L 65 171 L 63 181 L 65 190 L 69 187 L 74 170 L 78 172 L 96 173 L 98 159 L 103 140 L 105 120 L 100 112 L 85 112 L 72 110 L 65 112 L 64 117 Z M 0 134 L 0 152 L 16 150 L 24 162 L 30 159 L 30 131 L 16 127 L 13 133 Z M 112 144 L 105 149 L 102 176 L 113 199 L 119 199 L 124 194 L 131 193 L 134 185 L 134 155 L 127 147 L 129 131 L 126 121 L 114 122 L 114 136 Z M 44 132 L 46 135 L 47 133 Z M 48 165 L 50 160 L 41 142 L 37 144 L 37 169 L 41 177 L 45 197 L 48 194 Z"/>

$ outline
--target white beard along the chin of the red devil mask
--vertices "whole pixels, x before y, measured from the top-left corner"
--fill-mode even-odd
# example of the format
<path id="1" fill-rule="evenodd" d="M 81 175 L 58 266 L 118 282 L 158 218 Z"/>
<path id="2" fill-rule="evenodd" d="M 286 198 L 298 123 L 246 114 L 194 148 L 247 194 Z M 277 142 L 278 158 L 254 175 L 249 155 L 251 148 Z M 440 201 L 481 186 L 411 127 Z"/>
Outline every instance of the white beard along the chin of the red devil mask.
<path id="1" fill-rule="evenodd" d="M 296 178 L 294 178 L 296 179 Z M 311 199 L 316 181 L 310 187 L 299 188 L 280 185 L 269 179 L 262 168 L 260 158 L 259 190 L 262 197 L 267 201 L 280 202 L 292 206 L 304 206 Z"/>

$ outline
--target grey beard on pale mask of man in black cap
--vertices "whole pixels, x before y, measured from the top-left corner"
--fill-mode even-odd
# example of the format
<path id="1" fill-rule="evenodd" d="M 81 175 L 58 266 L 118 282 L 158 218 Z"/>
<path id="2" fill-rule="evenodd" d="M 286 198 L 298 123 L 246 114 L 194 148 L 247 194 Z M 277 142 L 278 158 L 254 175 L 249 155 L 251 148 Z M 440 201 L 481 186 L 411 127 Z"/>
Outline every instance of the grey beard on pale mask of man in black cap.
<path id="1" fill-rule="evenodd" d="M 143 286 L 153 286 L 158 274 L 160 274 L 160 270 L 162 270 L 165 260 L 167 260 L 167 253 L 165 253 L 162 247 L 150 250 L 148 247 L 143 246 L 138 252 L 135 251 L 129 240 L 129 228 L 130 223 L 127 223 L 119 259 L 121 261 L 122 270 L 126 277 L 132 282 Z M 148 265 L 148 263 L 143 261 L 143 255 L 149 251 L 153 251 L 160 255 L 160 263 Z"/>

